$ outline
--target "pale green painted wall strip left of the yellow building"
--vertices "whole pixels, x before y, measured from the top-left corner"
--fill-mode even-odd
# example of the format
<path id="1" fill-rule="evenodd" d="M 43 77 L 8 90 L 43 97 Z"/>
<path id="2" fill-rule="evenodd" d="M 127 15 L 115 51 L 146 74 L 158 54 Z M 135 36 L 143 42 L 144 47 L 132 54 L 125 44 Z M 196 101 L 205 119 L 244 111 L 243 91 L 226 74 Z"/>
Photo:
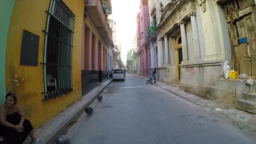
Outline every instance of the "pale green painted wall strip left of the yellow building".
<path id="1" fill-rule="evenodd" d="M 5 101 L 5 51 L 11 13 L 15 0 L 0 0 L 0 105 Z"/>

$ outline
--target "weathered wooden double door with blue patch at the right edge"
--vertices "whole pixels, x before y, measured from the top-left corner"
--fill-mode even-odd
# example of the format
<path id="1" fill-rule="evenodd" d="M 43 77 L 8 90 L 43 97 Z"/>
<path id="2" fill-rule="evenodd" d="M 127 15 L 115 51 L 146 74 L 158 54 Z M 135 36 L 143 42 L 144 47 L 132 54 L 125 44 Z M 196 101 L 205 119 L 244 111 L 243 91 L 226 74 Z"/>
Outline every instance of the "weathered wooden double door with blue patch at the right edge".
<path id="1" fill-rule="evenodd" d="M 233 11 L 245 10 L 240 5 L 245 3 L 239 0 L 224 5 L 227 10 L 226 16 L 231 20 L 228 24 L 232 45 L 232 69 L 237 70 L 239 74 L 256 78 L 256 6 L 251 5 L 251 12 L 239 16 L 239 19 Z"/>

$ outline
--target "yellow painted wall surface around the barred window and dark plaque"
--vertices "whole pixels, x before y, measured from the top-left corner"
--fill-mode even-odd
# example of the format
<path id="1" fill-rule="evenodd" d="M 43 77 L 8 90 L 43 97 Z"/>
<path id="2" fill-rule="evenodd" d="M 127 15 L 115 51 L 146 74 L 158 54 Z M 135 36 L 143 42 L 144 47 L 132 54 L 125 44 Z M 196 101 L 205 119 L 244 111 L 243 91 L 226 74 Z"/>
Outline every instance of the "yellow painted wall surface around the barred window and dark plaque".
<path id="1" fill-rule="evenodd" d="M 84 0 L 63 0 L 75 14 L 72 80 L 73 91 L 56 99 L 44 99 L 43 49 L 48 7 L 50 0 L 16 0 L 11 17 L 6 51 L 6 89 L 14 92 L 25 116 L 35 128 L 67 109 L 81 98 L 81 47 Z M 20 66 L 23 29 L 40 36 L 38 66 Z"/>

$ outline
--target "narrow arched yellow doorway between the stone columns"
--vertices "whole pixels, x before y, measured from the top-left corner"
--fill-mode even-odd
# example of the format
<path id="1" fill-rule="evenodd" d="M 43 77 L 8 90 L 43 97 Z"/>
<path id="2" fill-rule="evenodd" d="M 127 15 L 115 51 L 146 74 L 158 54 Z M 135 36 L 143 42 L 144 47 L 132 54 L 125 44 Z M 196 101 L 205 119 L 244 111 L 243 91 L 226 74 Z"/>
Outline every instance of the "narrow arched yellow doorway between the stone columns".
<path id="1" fill-rule="evenodd" d="M 183 60 L 182 56 L 182 42 L 181 42 L 181 35 L 177 36 L 174 40 L 175 44 L 175 80 L 180 80 L 180 67 L 181 61 Z"/>

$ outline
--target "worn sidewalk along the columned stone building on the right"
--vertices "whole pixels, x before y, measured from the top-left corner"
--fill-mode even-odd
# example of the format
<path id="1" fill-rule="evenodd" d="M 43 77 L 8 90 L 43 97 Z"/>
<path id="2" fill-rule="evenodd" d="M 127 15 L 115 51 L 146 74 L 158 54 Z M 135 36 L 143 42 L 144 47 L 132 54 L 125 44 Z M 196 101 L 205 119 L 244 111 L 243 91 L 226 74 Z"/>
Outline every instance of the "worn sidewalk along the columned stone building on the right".
<path id="1" fill-rule="evenodd" d="M 148 80 L 147 77 L 141 77 L 135 74 L 133 75 L 141 78 L 142 80 Z M 219 117 L 226 118 L 233 125 L 242 129 L 247 135 L 256 138 L 256 115 L 236 109 L 235 106 L 224 104 L 221 101 L 203 99 L 194 94 L 187 93 L 178 87 L 173 87 L 160 82 L 154 83 L 154 85 L 198 105 L 200 110 L 211 112 Z"/>

